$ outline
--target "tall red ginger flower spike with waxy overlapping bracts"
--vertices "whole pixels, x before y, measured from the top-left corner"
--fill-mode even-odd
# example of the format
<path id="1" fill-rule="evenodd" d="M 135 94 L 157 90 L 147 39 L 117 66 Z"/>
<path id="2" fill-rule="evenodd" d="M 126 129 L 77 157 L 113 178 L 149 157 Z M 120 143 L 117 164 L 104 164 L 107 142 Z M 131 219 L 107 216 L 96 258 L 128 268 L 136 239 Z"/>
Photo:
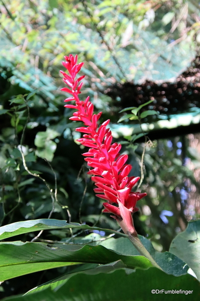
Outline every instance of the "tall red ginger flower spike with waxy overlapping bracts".
<path id="1" fill-rule="evenodd" d="M 128 155 L 120 155 L 121 144 L 112 143 L 112 134 L 106 126 L 109 120 L 98 127 L 98 120 L 102 112 L 94 114 L 94 105 L 89 101 L 89 96 L 85 101 L 80 101 L 78 94 L 81 93 L 83 82 L 79 82 L 85 77 L 80 76 L 75 80 L 77 73 L 84 63 L 77 64 L 78 56 L 70 54 L 65 56 L 66 62 L 63 66 L 69 74 L 61 71 L 64 75 L 64 82 L 69 88 L 62 88 L 62 91 L 70 93 L 72 96 L 65 99 L 65 102 L 75 101 L 74 105 L 65 105 L 66 108 L 76 109 L 70 120 L 82 121 L 84 127 L 77 128 L 76 131 L 84 133 L 83 138 L 78 139 L 82 145 L 89 147 L 89 151 L 84 153 L 85 161 L 92 167 L 88 174 L 93 175 L 92 180 L 97 188 L 94 191 L 96 196 L 107 200 L 103 203 L 104 211 L 112 213 L 114 219 L 120 224 L 124 232 L 136 233 L 132 213 L 138 211 L 137 200 L 146 193 L 131 192 L 132 187 L 139 180 L 139 177 L 128 177 L 132 168 L 130 164 L 125 164 Z M 115 204 L 115 205 L 111 205 Z M 125 225 L 125 226 L 124 226 Z"/>

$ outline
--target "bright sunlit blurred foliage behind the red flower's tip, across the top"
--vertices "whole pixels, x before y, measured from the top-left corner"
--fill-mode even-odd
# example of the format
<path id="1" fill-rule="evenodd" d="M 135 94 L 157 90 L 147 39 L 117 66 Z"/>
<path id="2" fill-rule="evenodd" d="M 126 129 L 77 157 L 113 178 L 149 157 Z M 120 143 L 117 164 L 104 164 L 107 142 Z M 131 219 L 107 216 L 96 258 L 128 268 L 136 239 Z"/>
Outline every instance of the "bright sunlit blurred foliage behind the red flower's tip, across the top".
<path id="1" fill-rule="evenodd" d="M 81 60 L 96 64 L 95 71 L 87 64 L 90 83 L 91 78 L 105 80 L 102 71 L 110 74 L 111 81 L 113 76 L 123 81 L 169 80 L 180 74 L 195 54 L 193 37 L 198 25 L 189 29 L 191 22 L 196 23 L 187 16 L 187 4 L 172 2 L 160 8 L 158 1 L 124 4 L 121 0 L 115 3 L 70 0 L 58 4 L 45 1 L 35 6 L 28 1 L 22 5 L 16 0 L 15 4 L 5 5 L 9 13 L 1 17 L 0 58 L 4 62 L 0 65 L 12 68 L 11 78 L 15 83 L 30 91 L 38 88 L 40 94 L 51 100 L 55 99 L 57 80 L 47 73 L 53 77 L 58 73 L 66 51 L 80 53 Z M 190 14 L 195 12 L 191 4 L 189 9 Z M 187 35 L 183 35 L 188 25 L 182 21 L 183 12 L 188 17 Z M 173 32 L 169 33 L 174 22 Z M 173 38 L 180 37 L 179 43 L 173 43 Z M 98 80 L 93 82 L 98 87 Z"/>

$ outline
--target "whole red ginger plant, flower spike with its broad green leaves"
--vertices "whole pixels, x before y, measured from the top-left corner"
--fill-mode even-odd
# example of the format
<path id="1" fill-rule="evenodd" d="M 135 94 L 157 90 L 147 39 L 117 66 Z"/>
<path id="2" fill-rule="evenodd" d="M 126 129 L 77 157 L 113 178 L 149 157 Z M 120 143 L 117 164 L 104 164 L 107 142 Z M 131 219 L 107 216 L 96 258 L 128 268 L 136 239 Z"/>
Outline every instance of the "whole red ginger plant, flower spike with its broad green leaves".
<path id="1" fill-rule="evenodd" d="M 32 289 L 25 295 L 8 297 L 4 300 L 34 300 L 36 298 L 41 301 L 44 299 L 63 300 L 64 298 L 68 300 L 123 300 L 124 298 L 126 300 L 137 300 L 138 298 L 144 300 L 147 299 L 147 295 L 149 299 L 151 293 L 155 300 L 160 298 L 160 293 L 177 293 L 177 299 L 183 300 L 186 299 L 187 294 L 192 294 L 192 299 L 197 300 L 199 294 L 197 279 L 200 279 L 199 221 L 189 223 L 186 231 L 172 241 L 170 252 L 159 253 L 154 250 L 150 241 L 137 236 L 132 213 L 135 211 L 137 200 L 146 193 L 131 192 L 138 177 L 128 177 L 131 166 L 124 165 L 127 155 L 119 155 L 120 144 L 111 144 L 111 132 L 109 129 L 106 130 L 109 121 L 104 122 L 97 129 L 97 121 L 101 113 L 93 114 L 93 105 L 89 102 L 88 97 L 85 102 L 79 99 L 78 94 L 80 94 L 82 86 L 79 81 L 84 76 L 78 79 L 75 77 L 83 63 L 77 64 L 77 56 L 70 55 L 65 59 L 66 62 L 63 65 L 70 75 L 62 73 L 64 81 L 70 88 L 62 88 L 62 90 L 72 95 L 65 101 L 75 101 L 76 104 L 75 106 L 66 105 L 66 107 L 78 110 L 70 119 L 82 121 L 87 126 L 79 127 L 76 130 L 86 133 L 84 138 L 79 139 L 79 142 L 90 147 L 89 151 L 83 155 L 86 156 L 88 165 L 94 168 L 89 171 L 89 174 L 93 174 L 92 180 L 98 187 L 94 190 L 98 192 L 98 197 L 107 200 L 108 203 L 103 203 L 104 212 L 114 215 L 114 219 L 123 229 L 124 234 L 76 223 L 67 224 L 66 221 L 53 219 L 30 220 L 1 227 L 1 239 L 40 230 L 40 233 L 31 242 L 5 241 L 0 243 L 1 281 L 52 267 L 79 264 L 74 270 Z M 29 172 L 22 145 L 21 155 L 25 169 Z M 99 233 L 111 232 L 112 236 L 121 237 L 112 238 L 109 235 L 102 238 L 99 234 L 92 233 L 86 237 L 76 235 L 75 241 L 72 236 L 65 241 L 37 242 L 41 233 L 48 229 L 97 230 Z M 188 256 L 188 252 L 192 252 L 194 256 L 191 258 Z M 109 287 L 108 281 L 112 283 Z M 123 289 L 117 288 L 119 281 L 120 287 Z M 134 285 L 138 286 L 139 283 L 143 283 L 145 292 L 140 289 L 133 291 L 132 281 L 134 281 Z"/>

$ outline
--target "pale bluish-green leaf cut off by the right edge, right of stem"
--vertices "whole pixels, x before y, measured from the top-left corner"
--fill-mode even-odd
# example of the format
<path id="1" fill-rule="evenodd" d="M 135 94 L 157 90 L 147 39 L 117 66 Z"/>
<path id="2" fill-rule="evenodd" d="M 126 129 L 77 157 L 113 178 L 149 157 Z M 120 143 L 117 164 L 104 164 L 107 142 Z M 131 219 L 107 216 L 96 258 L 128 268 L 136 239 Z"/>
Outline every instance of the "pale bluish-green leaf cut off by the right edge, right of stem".
<path id="1" fill-rule="evenodd" d="M 189 222 L 171 243 L 170 252 L 184 260 L 200 281 L 200 221 Z"/>

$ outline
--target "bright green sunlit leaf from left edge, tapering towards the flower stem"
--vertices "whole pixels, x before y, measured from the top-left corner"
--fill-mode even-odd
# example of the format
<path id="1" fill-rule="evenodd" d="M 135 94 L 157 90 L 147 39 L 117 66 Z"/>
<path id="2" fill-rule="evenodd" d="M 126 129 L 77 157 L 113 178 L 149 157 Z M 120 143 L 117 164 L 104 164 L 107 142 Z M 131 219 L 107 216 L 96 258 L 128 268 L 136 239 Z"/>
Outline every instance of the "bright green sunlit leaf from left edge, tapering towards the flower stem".
<path id="1" fill-rule="evenodd" d="M 120 255 L 103 246 L 2 242 L 0 243 L 0 281 L 75 263 L 106 264 L 117 260 L 122 260 L 128 268 L 152 266 L 143 256 Z"/>

